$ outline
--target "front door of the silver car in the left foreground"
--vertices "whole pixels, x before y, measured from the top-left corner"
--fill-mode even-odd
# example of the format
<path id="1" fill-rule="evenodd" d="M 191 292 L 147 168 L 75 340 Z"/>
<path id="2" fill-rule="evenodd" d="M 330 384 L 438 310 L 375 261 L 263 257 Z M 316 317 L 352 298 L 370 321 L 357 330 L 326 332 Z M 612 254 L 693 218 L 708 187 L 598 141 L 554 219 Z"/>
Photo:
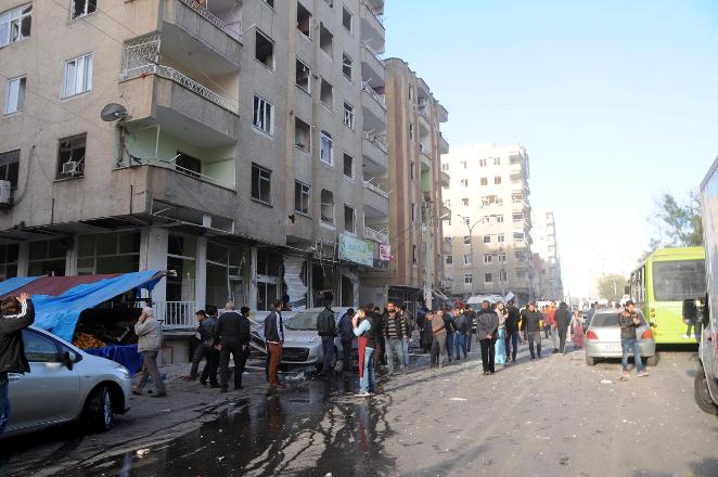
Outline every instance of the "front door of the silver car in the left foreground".
<path id="1" fill-rule="evenodd" d="M 10 375 L 10 428 L 75 418 L 81 405 L 79 375 L 63 363 L 57 341 L 24 330 L 23 343 L 30 372 Z"/>

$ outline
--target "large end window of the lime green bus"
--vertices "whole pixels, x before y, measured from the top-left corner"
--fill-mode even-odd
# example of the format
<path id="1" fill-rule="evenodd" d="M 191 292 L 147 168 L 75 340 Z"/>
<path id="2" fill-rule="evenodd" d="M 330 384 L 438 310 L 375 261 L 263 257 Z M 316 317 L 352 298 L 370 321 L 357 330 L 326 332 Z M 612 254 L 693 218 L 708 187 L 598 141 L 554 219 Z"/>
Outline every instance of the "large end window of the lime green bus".
<path id="1" fill-rule="evenodd" d="M 705 294 L 705 261 L 656 261 L 653 295 L 656 301 L 683 301 Z"/>

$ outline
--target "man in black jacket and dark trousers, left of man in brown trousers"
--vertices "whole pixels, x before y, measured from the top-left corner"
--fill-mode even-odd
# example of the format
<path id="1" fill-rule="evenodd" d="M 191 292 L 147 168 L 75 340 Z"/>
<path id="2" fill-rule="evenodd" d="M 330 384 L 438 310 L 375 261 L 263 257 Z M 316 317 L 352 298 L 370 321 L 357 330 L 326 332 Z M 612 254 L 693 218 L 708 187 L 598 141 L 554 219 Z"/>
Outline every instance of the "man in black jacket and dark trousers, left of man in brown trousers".
<path id="1" fill-rule="evenodd" d="M 248 313 L 247 309 L 247 313 Z M 234 360 L 234 390 L 242 389 L 242 373 L 246 363 L 246 352 L 249 349 L 251 326 L 248 320 L 234 311 L 234 304 L 227 302 L 225 313 L 219 317 L 215 328 L 215 346 L 219 347 L 219 374 L 221 375 L 221 392 L 227 392 L 229 381 L 229 356 Z"/>

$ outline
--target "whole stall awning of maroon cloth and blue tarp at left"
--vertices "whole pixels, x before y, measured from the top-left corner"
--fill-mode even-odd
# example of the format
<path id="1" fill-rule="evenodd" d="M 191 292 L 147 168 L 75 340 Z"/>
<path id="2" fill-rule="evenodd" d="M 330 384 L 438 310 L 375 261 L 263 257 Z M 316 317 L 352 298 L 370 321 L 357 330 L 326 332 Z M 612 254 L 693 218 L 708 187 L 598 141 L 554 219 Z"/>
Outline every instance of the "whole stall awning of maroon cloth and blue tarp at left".
<path id="1" fill-rule="evenodd" d="M 0 283 L 0 292 L 20 283 L 11 294 L 33 294 L 35 325 L 70 341 L 82 311 L 133 288 L 151 291 L 163 276 L 157 270 L 146 270 L 117 275 L 40 276 L 24 279 L 25 284 L 16 281 L 5 285 L 15 280 L 10 279 Z"/>

